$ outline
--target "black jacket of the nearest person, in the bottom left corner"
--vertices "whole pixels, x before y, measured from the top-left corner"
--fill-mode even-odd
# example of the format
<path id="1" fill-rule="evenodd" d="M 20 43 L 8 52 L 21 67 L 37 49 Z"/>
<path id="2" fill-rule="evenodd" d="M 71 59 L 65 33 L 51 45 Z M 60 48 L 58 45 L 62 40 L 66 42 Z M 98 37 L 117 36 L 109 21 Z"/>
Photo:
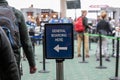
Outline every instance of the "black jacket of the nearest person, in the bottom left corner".
<path id="1" fill-rule="evenodd" d="M 0 80 L 20 80 L 11 45 L 0 27 Z"/>

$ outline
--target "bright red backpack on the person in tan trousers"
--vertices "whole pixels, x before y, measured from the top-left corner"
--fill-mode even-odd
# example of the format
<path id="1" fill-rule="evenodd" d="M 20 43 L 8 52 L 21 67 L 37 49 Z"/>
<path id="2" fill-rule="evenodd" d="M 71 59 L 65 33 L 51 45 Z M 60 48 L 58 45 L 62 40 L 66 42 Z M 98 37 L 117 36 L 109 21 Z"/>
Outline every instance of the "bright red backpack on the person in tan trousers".
<path id="1" fill-rule="evenodd" d="M 76 32 L 84 32 L 85 27 L 83 25 L 83 18 L 82 17 L 77 18 L 77 20 L 75 21 L 74 30 Z"/>

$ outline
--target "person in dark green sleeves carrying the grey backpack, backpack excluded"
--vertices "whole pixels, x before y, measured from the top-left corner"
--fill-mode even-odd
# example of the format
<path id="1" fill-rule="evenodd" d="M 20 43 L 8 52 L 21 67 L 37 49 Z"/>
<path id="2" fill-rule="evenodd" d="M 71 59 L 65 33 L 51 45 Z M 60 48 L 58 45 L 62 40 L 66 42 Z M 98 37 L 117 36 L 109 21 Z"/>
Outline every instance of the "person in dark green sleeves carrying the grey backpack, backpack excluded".
<path id="1" fill-rule="evenodd" d="M 9 5 L 6 0 L 0 0 L 0 6 L 9 6 Z M 32 73 L 36 72 L 36 64 L 35 64 L 32 43 L 31 43 L 31 40 L 30 40 L 29 34 L 28 34 L 28 29 L 27 29 L 22 12 L 17 10 L 14 7 L 12 7 L 12 9 L 13 9 L 13 12 L 16 17 L 15 24 L 17 24 L 18 28 L 19 28 L 20 42 L 21 42 L 22 48 L 25 52 L 25 55 L 26 55 L 28 63 L 29 63 L 30 73 L 32 74 Z M 18 49 L 13 49 L 19 70 L 20 70 L 20 60 L 21 60 L 21 54 L 20 54 L 21 51 L 20 50 L 21 50 L 21 47 L 19 47 Z"/>

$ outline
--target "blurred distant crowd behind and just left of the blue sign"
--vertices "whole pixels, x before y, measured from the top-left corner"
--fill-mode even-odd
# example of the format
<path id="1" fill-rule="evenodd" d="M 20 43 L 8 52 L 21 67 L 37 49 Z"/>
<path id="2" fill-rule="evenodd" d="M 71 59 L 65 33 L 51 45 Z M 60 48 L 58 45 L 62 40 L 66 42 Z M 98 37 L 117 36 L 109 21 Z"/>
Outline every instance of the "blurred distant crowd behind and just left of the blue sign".
<path id="1" fill-rule="evenodd" d="M 44 33 L 44 25 L 46 23 L 73 23 L 73 19 L 71 17 L 57 18 L 56 16 L 53 16 L 42 18 L 39 17 L 39 15 L 37 17 L 28 16 L 26 25 L 28 27 L 29 35 L 34 36 L 32 42 L 34 42 L 35 45 L 40 45 Z"/>

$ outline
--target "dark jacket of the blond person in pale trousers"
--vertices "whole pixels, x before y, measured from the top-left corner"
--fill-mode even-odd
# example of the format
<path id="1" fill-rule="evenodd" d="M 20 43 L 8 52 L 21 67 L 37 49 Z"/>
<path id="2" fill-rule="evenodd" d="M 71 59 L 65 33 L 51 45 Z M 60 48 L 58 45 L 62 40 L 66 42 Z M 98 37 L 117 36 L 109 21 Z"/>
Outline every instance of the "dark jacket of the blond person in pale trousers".
<path id="1" fill-rule="evenodd" d="M 97 32 L 105 35 L 112 33 L 112 28 L 109 22 L 104 19 L 100 20 L 97 24 Z"/>

